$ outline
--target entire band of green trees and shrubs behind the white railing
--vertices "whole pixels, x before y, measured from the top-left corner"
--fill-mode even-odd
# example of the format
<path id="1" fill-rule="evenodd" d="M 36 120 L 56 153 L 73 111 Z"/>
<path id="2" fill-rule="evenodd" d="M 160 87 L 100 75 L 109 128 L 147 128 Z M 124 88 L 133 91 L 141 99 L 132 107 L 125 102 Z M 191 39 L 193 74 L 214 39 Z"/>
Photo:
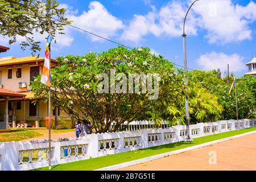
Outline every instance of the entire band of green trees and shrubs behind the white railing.
<path id="1" fill-rule="evenodd" d="M 171 125 L 184 125 L 185 90 L 191 123 L 236 118 L 235 92 L 228 94 L 232 80 L 228 85 L 226 78 L 221 78 L 220 70 L 188 72 L 186 86 L 183 70 L 176 69 L 163 56 L 152 55 L 149 48 L 118 47 L 101 54 L 89 52 L 85 56 L 69 55 L 57 60 L 59 66 L 52 69 L 53 106 L 61 107 L 72 118 L 87 119 L 94 132 L 121 131 L 134 120 L 155 121 L 158 125 L 167 120 Z M 115 69 L 115 76 L 159 73 L 158 99 L 149 100 L 148 93 L 98 93 L 101 81 L 97 75 L 110 76 L 110 69 Z M 237 79 L 239 118 L 255 116 L 255 79 L 251 76 Z M 119 81 L 115 81 L 116 85 Z M 48 88 L 40 83 L 40 76 L 30 86 L 37 99 L 48 100 Z"/>

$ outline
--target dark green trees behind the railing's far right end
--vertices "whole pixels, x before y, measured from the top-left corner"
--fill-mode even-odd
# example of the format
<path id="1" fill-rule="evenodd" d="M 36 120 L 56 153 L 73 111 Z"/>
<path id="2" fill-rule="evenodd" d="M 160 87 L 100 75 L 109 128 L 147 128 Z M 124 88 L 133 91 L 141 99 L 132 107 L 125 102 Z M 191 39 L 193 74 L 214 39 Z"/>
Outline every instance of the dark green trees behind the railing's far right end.
<path id="1" fill-rule="evenodd" d="M 223 107 L 221 119 L 236 119 L 236 92 L 233 87 L 232 92 L 229 94 L 230 86 L 233 82 L 233 77 L 229 79 L 220 78 L 216 71 L 193 71 L 191 77 L 191 84 L 197 85 L 199 88 L 205 88 L 209 93 L 215 94 L 218 97 L 218 103 Z M 256 100 L 255 100 L 255 87 L 256 77 L 243 76 L 236 78 L 237 89 L 237 105 L 238 105 L 238 118 L 251 118 L 255 117 Z"/>

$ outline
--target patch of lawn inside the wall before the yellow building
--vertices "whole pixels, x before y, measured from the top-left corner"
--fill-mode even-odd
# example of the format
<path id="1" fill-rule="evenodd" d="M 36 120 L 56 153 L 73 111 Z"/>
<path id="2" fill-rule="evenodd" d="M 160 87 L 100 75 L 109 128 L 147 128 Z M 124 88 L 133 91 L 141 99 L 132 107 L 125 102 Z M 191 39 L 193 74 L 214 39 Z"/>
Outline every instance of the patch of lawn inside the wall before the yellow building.
<path id="1" fill-rule="evenodd" d="M 34 130 L 11 130 L 9 133 L 0 134 L 0 142 L 17 142 L 20 140 L 34 138 L 43 135 Z"/>

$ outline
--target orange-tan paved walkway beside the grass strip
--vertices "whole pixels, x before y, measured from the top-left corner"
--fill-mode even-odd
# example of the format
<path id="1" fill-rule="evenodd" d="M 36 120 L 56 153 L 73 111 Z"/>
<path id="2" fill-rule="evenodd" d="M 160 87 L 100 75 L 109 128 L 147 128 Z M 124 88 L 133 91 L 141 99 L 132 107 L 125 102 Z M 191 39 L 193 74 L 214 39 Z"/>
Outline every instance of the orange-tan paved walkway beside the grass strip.
<path id="1" fill-rule="evenodd" d="M 213 157 L 216 152 L 216 164 Z M 209 155 L 210 154 L 210 155 Z M 256 170 L 256 134 L 227 140 L 119 170 Z"/>

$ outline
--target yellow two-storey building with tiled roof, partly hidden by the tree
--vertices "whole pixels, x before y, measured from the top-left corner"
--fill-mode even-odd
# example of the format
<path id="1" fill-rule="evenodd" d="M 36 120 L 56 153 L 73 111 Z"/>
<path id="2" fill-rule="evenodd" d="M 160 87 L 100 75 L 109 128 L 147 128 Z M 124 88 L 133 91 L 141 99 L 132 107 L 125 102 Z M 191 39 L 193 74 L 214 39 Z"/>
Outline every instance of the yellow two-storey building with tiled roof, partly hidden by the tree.
<path id="1" fill-rule="evenodd" d="M 51 59 L 51 67 L 57 63 Z M 30 82 L 42 73 L 43 64 L 44 57 L 0 57 L 0 129 L 21 126 L 21 123 L 32 127 L 46 126 L 47 103 L 35 103 L 30 89 Z M 71 120 L 59 108 L 52 108 L 51 113 L 55 121 L 59 115 Z"/>

